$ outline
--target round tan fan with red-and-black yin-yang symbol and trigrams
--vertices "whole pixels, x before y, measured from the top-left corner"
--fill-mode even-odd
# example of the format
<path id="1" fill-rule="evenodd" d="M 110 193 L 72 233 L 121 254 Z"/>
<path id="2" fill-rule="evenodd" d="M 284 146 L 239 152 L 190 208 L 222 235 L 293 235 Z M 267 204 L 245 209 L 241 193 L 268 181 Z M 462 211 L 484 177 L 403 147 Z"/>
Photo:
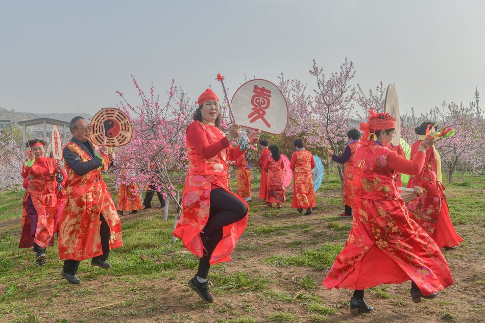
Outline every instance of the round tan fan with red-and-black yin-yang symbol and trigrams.
<path id="1" fill-rule="evenodd" d="M 99 146 L 118 147 L 130 142 L 133 126 L 125 112 L 104 108 L 91 120 L 91 141 Z"/>

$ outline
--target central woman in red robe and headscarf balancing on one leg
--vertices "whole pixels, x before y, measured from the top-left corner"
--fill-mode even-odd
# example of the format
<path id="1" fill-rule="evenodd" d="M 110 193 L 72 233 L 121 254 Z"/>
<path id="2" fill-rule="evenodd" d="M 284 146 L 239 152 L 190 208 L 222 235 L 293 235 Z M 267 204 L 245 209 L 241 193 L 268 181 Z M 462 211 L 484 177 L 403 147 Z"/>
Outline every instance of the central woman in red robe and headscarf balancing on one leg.
<path id="1" fill-rule="evenodd" d="M 231 260 L 234 245 L 248 223 L 248 204 L 229 191 L 227 161 L 237 160 L 244 151 L 229 143 L 241 128 L 233 124 L 226 135 L 221 122 L 219 98 L 207 89 L 199 97 L 199 109 L 186 130 L 189 160 L 182 196 L 182 214 L 174 236 L 201 257 L 197 274 L 188 285 L 204 302 L 212 303 L 207 276 L 211 265 Z M 229 138 L 229 140 L 228 140 Z M 252 131 L 249 140 L 259 139 Z"/>

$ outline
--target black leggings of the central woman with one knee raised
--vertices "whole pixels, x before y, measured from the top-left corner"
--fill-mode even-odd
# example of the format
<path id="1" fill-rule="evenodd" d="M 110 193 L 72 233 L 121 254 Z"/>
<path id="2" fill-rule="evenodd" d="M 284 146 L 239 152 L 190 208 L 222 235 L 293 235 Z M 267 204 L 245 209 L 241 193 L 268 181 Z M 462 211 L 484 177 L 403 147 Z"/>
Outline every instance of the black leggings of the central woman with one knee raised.
<path id="1" fill-rule="evenodd" d="M 204 248 L 207 254 L 199 261 L 197 276 L 207 279 L 209 274 L 209 260 L 215 247 L 223 238 L 223 228 L 243 219 L 248 213 L 248 207 L 243 201 L 222 188 L 210 192 L 209 219 L 202 231 L 207 235 Z"/>

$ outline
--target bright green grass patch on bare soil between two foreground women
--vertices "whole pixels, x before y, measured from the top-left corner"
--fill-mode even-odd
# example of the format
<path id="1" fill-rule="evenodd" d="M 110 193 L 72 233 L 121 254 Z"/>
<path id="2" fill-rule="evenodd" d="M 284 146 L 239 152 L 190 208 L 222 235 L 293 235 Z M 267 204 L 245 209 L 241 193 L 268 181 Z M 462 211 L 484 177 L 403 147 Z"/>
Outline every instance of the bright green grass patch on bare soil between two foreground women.
<path id="1" fill-rule="evenodd" d="M 271 256 L 266 258 L 264 263 L 275 267 L 303 266 L 323 270 L 333 264 L 333 261 L 342 249 L 342 245 L 325 243 L 318 249 L 306 249 L 301 254 L 295 256 Z"/>

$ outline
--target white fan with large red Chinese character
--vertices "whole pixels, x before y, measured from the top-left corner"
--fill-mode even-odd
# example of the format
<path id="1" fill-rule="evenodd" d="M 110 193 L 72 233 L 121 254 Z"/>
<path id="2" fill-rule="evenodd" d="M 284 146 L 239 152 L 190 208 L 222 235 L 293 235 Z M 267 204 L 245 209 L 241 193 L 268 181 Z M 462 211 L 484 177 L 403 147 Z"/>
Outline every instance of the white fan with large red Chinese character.
<path id="1" fill-rule="evenodd" d="M 241 85 L 231 100 L 231 121 L 240 126 L 279 135 L 288 123 L 288 107 L 280 89 L 256 79 Z"/>

